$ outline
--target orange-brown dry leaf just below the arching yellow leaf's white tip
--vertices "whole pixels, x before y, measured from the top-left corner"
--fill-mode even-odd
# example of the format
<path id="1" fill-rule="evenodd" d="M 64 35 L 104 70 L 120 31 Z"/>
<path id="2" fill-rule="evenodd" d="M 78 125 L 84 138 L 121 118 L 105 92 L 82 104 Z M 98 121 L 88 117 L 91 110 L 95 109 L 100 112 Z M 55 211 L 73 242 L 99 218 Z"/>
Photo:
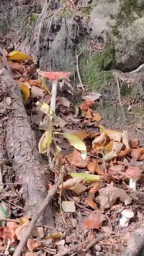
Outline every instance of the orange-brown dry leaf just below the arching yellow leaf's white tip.
<path id="1" fill-rule="evenodd" d="M 89 162 L 89 157 L 86 156 L 85 160 L 83 160 L 81 153 L 79 153 L 77 150 L 74 150 L 73 153 L 67 155 L 65 158 L 69 164 L 80 168 L 85 168 Z"/>

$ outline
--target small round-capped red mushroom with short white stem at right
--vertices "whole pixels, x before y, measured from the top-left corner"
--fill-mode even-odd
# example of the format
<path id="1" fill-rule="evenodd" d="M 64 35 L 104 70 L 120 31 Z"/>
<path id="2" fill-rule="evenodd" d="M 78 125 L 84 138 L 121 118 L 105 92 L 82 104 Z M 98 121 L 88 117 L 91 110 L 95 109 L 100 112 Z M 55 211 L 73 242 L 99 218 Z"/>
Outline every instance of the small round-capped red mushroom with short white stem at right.
<path id="1" fill-rule="evenodd" d="M 136 182 L 141 177 L 141 171 L 139 168 L 131 166 L 126 173 L 127 177 L 129 177 L 129 188 L 136 191 Z"/>

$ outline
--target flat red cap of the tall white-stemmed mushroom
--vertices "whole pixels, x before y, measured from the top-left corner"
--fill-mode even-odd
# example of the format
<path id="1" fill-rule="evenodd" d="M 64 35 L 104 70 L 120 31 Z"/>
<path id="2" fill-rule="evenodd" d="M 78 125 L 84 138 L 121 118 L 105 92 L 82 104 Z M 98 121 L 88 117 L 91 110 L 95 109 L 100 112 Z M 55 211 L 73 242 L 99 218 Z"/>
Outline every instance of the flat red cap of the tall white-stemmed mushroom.
<path id="1" fill-rule="evenodd" d="M 70 72 L 46 72 L 40 69 L 36 70 L 40 75 L 54 81 L 59 79 L 69 79 Z"/>

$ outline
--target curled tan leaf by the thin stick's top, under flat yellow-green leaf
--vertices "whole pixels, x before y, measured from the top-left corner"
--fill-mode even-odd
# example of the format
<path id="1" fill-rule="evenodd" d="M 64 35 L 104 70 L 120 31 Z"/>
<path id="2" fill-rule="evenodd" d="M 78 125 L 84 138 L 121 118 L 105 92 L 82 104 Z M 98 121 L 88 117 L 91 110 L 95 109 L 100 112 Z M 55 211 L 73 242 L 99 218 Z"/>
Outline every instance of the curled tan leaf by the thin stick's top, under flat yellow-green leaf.
<path id="1" fill-rule="evenodd" d="M 87 189 L 87 187 L 82 185 L 80 182 L 81 182 L 81 179 L 77 179 L 77 178 L 68 179 L 67 181 L 65 181 L 63 183 L 63 185 L 59 186 L 59 189 L 69 189 L 69 190 L 75 192 L 77 195 L 80 195 L 81 192 L 83 192 Z"/>

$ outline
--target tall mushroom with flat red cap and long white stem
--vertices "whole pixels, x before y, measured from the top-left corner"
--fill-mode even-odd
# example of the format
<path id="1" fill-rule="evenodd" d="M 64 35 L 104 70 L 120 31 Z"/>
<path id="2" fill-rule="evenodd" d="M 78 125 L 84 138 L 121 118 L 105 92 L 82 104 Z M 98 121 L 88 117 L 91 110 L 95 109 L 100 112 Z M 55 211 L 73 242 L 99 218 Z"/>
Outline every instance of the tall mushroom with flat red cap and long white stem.
<path id="1" fill-rule="evenodd" d="M 57 82 L 61 79 L 69 79 L 70 72 L 45 72 L 37 69 L 37 72 L 52 81 L 52 99 L 50 108 L 55 113 L 55 102 L 57 96 Z"/>

